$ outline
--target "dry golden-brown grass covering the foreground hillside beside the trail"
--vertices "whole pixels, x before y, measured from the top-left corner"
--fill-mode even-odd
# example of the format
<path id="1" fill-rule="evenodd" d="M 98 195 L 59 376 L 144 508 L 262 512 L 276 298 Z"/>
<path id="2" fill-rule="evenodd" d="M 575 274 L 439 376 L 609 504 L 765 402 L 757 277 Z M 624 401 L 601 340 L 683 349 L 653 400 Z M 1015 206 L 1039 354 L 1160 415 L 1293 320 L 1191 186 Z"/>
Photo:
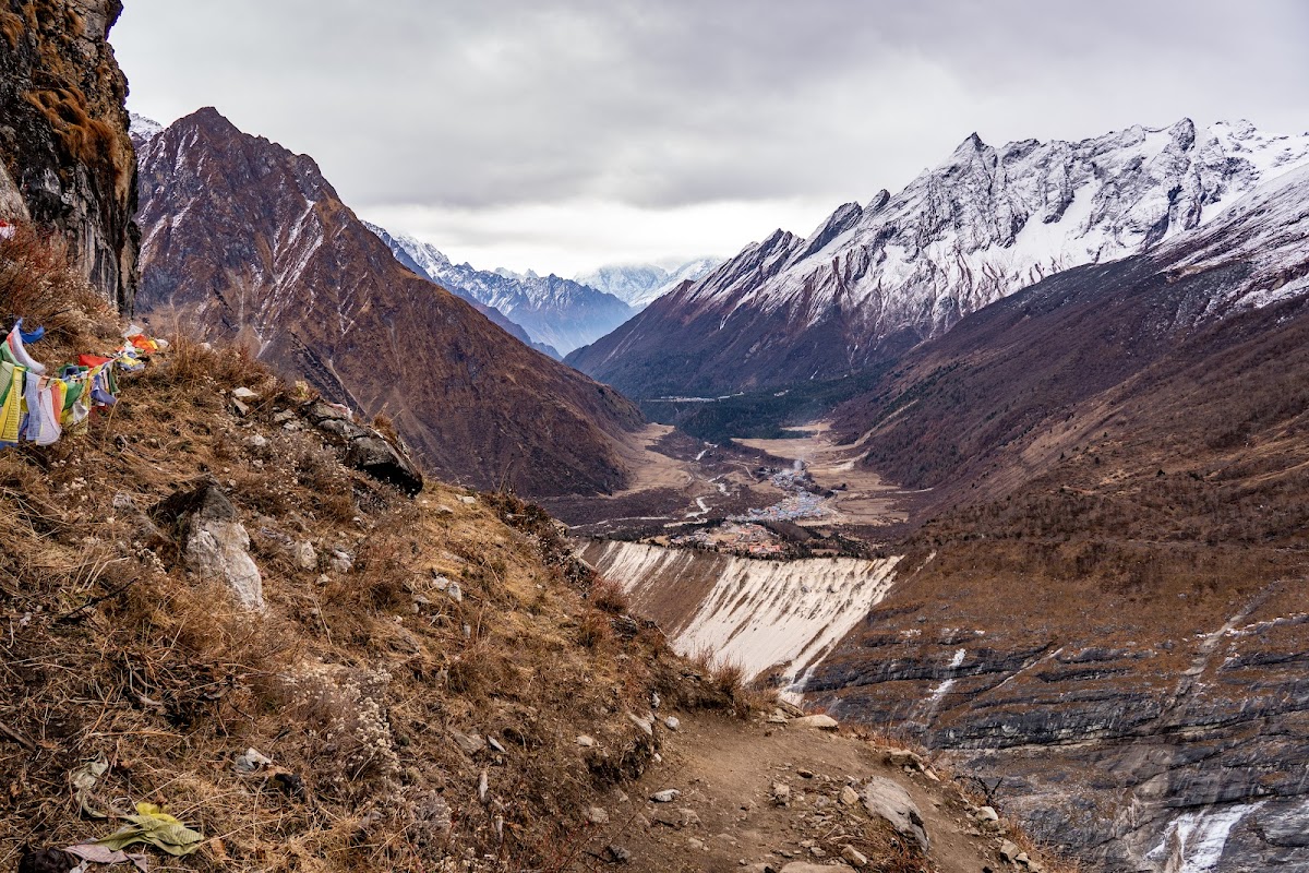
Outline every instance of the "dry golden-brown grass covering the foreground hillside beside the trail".
<path id="1" fill-rule="evenodd" d="M 113 828 L 68 788 L 102 758 L 89 805 L 164 802 L 209 838 L 170 869 L 442 869 L 465 852 L 563 869 L 581 809 L 653 754 L 626 711 L 654 691 L 734 705 L 654 628 L 614 631 L 613 592 L 538 508 L 440 484 L 408 500 L 275 423 L 302 398 L 237 349 L 173 339 L 113 418 L 0 453 L 0 868 Z M 246 418 L 237 385 L 260 394 Z M 250 533 L 262 615 L 191 577 L 152 510 L 207 478 Z M 505 751 L 470 755 L 454 732 Z M 274 771 L 233 771 L 251 746 Z"/>

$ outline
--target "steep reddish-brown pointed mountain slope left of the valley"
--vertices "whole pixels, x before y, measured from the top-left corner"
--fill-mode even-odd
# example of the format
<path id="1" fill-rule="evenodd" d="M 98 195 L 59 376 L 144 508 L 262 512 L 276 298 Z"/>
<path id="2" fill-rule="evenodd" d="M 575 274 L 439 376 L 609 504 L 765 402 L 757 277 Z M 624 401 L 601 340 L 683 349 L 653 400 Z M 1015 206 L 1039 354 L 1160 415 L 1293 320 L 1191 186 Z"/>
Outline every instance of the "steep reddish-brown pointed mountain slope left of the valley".
<path id="1" fill-rule="evenodd" d="M 401 266 L 306 156 L 213 109 L 141 154 L 140 312 L 238 338 L 280 373 L 386 414 L 435 472 L 607 492 L 636 408 Z"/>

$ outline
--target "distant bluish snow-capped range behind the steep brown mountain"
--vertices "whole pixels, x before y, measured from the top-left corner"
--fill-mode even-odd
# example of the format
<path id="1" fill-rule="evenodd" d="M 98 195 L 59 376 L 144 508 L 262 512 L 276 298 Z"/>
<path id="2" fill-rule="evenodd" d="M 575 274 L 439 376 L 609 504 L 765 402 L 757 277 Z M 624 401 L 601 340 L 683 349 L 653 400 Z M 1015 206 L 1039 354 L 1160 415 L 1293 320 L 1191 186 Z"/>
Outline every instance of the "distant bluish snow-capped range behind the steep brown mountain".
<path id="1" fill-rule="evenodd" d="M 554 274 L 495 272 L 456 264 L 436 246 L 368 225 L 404 266 L 448 291 L 500 312 L 533 342 L 567 355 L 610 332 L 636 310 L 613 294 Z"/>

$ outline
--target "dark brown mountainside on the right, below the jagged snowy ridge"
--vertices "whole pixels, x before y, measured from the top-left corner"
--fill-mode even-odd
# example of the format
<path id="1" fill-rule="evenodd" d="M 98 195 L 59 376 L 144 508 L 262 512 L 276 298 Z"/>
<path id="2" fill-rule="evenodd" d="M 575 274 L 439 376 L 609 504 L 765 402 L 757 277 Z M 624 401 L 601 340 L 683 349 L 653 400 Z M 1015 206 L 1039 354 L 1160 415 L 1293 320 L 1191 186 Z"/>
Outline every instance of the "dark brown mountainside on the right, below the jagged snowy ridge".
<path id="1" fill-rule="evenodd" d="M 808 699 L 949 750 L 1096 869 L 1309 869 L 1306 181 L 838 411 L 931 520 Z"/>

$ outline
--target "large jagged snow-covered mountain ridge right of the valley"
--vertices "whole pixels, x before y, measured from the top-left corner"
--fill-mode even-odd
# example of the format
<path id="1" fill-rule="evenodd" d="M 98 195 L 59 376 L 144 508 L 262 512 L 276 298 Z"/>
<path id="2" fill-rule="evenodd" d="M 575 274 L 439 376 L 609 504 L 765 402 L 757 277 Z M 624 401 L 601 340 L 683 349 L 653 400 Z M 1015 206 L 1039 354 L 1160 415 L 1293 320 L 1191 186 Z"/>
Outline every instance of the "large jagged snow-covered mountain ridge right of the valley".
<path id="1" fill-rule="evenodd" d="M 569 363 L 637 397 L 839 376 L 1045 276 L 1153 250 L 1305 164 L 1309 134 L 1249 122 L 1001 148 L 974 134 L 899 194 L 746 246 Z"/>

